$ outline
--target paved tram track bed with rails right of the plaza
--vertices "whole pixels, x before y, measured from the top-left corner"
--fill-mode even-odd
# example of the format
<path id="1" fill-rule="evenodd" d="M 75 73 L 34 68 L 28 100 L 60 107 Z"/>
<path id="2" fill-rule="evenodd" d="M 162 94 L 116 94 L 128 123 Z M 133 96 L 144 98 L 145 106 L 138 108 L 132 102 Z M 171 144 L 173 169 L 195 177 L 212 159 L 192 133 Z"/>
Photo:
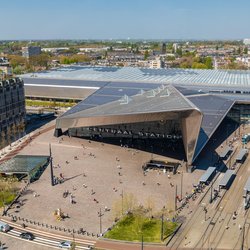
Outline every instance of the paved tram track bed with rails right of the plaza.
<path id="1" fill-rule="evenodd" d="M 230 159 L 230 162 L 235 161 L 236 152 L 239 149 L 236 148 L 234 154 L 232 155 L 232 158 Z M 213 185 L 209 186 L 209 188 L 206 190 L 205 194 L 199 201 L 199 207 L 195 211 L 195 213 L 192 215 L 192 217 L 189 219 L 189 222 L 184 225 L 184 228 L 182 231 L 178 232 L 178 236 L 175 238 L 175 240 L 169 244 L 171 245 L 171 249 L 179 249 L 179 248 L 185 248 L 185 247 L 191 247 L 192 249 L 202 249 L 206 246 L 208 248 L 214 245 L 213 249 L 216 249 L 220 243 L 222 242 L 225 233 L 227 229 L 229 228 L 229 225 L 234 224 L 235 222 L 232 222 L 233 214 L 234 212 L 238 212 L 237 214 L 241 214 L 241 208 L 242 208 L 242 190 L 243 185 L 245 183 L 245 179 L 247 178 L 247 175 L 245 175 L 246 167 L 248 167 L 250 162 L 250 159 L 247 158 L 246 161 L 243 164 L 236 165 L 235 174 L 237 175 L 237 180 L 234 181 L 232 187 L 228 191 L 221 192 L 220 198 L 218 203 L 211 203 L 209 202 L 209 191 L 211 191 L 212 186 L 215 187 L 218 185 L 219 176 L 218 174 L 215 177 L 215 180 L 213 181 Z M 232 198 L 233 197 L 233 198 Z M 200 234 L 200 231 L 198 231 L 199 236 L 191 237 L 190 235 L 195 234 L 194 225 L 197 224 L 197 221 L 202 220 L 202 213 L 204 213 L 202 210 L 202 206 L 200 204 L 204 204 L 210 213 L 208 213 L 209 218 L 209 224 L 205 224 L 203 226 L 199 225 L 199 227 L 202 230 L 202 234 Z M 215 211 L 214 211 L 215 210 Z M 249 214 L 249 211 L 246 212 Z M 246 217 L 244 226 L 246 225 L 248 217 Z M 206 221 L 206 220 L 205 220 Z M 202 224 L 204 224 L 202 222 Z M 203 229 L 205 228 L 205 229 Z M 233 230 L 233 229 L 232 229 Z M 237 230 L 237 229 L 236 229 Z M 236 232 L 237 233 L 237 232 Z M 197 232 L 196 232 L 197 234 Z M 247 231 L 245 232 L 245 235 L 249 234 L 249 227 L 247 228 Z M 198 239 L 199 237 L 199 239 Z M 190 240 L 188 241 L 187 238 Z M 195 240 L 195 244 L 191 241 L 193 241 L 193 238 Z M 238 241 L 240 239 L 240 236 L 238 237 Z M 185 244 L 186 243 L 186 244 Z M 189 244 L 189 245 L 188 245 Z M 238 243 L 236 243 L 237 245 Z M 209 248 L 210 249 L 210 248 Z"/>

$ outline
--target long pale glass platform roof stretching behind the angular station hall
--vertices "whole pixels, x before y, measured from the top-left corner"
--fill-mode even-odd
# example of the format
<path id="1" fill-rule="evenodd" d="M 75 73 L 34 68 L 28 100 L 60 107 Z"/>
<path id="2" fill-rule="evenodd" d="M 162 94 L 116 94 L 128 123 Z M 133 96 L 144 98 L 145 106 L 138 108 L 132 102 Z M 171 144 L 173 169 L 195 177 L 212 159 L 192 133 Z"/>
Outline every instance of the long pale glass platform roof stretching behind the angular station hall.
<path id="1" fill-rule="evenodd" d="M 149 69 L 135 67 L 66 66 L 50 71 L 28 73 L 24 78 L 50 78 L 91 81 L 132 81 L 171 84 L 249 86 L 250 71 L 202 69 Z"/>

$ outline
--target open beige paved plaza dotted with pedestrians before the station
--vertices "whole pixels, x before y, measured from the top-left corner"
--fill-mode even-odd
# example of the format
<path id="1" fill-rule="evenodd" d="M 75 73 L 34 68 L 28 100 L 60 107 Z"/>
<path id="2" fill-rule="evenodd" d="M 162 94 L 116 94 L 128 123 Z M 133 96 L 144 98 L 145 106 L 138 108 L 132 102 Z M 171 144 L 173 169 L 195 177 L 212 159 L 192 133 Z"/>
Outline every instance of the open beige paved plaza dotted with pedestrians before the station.
<path id="1" fill-rule="evenodd" d="M 19 154 L 49 155 L 49 143 L 54 175 L 63 176 L 64 183 L 51 186 L 48 166 L 20 198 L 23 206 L 12 208 L 9 213 L 50 225 L 83 228 L 96 236 L 100 233 L 98 212 L 102 210 L 102 231 L 105 231 L 114 222 L 112 208 L 121 201 L 122 193 L 133 194 L 139 204 L 145 205 L 150 200 L 155 211 L 163 206 L 174 209 L 175 185 L 180 195 L 181 174 L 151 171 L 145 176 L 142 165 L 151 159 L 151 153 L 80 138 L 55 138 L 50 130 L 31 141 Z M 167 159 L 155 154 L 153 157 Z M 203 171 L 189 174 L 184 167 L 179 170 L 184 172 L 183 195 L 191 193 L 192 184 L 197 183 Z M 63 198 L 65 191 L 72 195 Z M 53 213 L 58 208 L 69 218 L 57 221 Z"/>

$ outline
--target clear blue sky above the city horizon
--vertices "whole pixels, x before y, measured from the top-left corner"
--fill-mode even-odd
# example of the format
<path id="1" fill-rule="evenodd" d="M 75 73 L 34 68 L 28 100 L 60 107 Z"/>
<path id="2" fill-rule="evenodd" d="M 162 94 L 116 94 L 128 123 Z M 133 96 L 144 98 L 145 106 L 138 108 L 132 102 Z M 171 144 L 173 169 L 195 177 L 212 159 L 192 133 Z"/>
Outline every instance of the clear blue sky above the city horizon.
<path id="1" fill-rule="evenodd" d="M 250 0 L 0 0 L 0 40 L 250 38 Z"/>

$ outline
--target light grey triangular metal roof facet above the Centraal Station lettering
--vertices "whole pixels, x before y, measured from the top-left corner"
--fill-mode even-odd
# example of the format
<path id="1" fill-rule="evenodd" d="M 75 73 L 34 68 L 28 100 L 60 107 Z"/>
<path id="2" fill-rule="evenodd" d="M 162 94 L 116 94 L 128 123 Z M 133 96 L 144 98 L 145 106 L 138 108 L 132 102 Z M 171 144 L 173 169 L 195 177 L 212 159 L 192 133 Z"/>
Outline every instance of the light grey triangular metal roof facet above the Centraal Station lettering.
<path id="1" fill-rule="evenodd" d="M 119 100 L 108 102 L 85 110 L 75 110 L 65 114 L 66 118 L 94 117 L 108 115 L 130 115 L 139 113 L 156 113 L 196 109 L 196 107 L 182 96 L 173 86 L 161 86 L 157 89 L 138 92 L 137 95 L 124 95 Z"/>

